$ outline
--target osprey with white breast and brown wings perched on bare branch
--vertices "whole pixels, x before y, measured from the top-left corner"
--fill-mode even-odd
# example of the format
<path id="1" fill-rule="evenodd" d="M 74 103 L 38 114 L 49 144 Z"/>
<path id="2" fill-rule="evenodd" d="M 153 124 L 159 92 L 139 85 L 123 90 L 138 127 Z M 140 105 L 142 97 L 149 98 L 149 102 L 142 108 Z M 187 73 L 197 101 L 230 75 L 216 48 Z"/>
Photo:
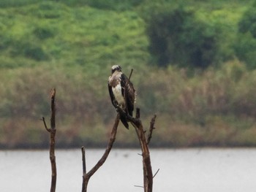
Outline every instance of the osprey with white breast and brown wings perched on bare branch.
<path id="1" fill-rule="evenodd" d="M 132 116 L 136 95 L 132 82 L 121 72 L 121 66 L 112 66 L 111 73 L 112 75 L 108 78 L 108 91 L 112 104 Z M 126 128 L 129 128 L 125 115 L 120 115 L 120 120 Z"/>

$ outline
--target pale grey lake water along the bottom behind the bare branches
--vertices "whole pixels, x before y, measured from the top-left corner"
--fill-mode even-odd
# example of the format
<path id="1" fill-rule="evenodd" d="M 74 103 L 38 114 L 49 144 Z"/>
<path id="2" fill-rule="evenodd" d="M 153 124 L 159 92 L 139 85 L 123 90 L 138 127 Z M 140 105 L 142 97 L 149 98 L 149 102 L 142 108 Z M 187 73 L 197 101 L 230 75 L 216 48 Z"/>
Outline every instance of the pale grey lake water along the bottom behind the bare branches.
<path id="1" fill-rule="evenodd" d="M 105 149 L 86 150 L 87 170 Z M 91 177 L 88 191 L 131 192 L 143 188 L 140 150 L 115 149 Z M 50 191 L 48 150 L 1 150 L 0 191 Z M 81 191 L 82 157 L 78 150 L 56 150 L 56 191 Z M 255 148 L 151 149 L 154 191 L 255 192 Z"/>

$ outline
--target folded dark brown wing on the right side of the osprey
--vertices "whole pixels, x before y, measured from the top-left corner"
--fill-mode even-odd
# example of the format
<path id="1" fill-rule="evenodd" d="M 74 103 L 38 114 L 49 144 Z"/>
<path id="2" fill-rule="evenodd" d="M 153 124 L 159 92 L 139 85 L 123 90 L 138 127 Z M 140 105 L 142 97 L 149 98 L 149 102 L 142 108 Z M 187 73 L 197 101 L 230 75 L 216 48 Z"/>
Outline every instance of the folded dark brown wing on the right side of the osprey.
<path id="1" fill-rule="evenodd" d="M 125 96 L 125 103 L 127 106 L 127 112 L 129 115 L 132 116 L 132 112 L 134 110 L 134 103 L 135 103 L 135 88 L 133 88 L 132 82 L 129 81 L 125 74 L 121 74 L 121 87 L 124 88 L 122 91 L 123 95 Z"/>

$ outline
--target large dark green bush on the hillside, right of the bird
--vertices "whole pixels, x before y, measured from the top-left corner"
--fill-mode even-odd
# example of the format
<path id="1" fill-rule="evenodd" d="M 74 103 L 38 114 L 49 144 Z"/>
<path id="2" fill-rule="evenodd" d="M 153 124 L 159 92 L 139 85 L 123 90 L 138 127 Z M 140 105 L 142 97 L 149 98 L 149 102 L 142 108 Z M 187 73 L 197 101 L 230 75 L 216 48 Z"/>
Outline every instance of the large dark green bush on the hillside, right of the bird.
<path id="1" fill-rule="evenodd" d="M 217 28 L 198 20 L 184 7 L 152 15 L 146 32 L 149 50 L 159 66 L 176 64 L 206 68 L 217 62 Z"/>

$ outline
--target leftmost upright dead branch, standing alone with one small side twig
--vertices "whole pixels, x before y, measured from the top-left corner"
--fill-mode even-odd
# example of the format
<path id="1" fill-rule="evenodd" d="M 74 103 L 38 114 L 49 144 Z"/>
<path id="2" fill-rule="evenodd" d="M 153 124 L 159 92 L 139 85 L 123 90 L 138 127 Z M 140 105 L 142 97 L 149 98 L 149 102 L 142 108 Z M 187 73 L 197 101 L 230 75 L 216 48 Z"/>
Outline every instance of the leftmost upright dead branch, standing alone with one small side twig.
<path id="1" fill-rule="evenodd" d="M 55 135 L 56 135 L 56 123 L 55 123 L 55 116 L 56 116 L 56 104 L 55 104 L 55 96 L 56 96 L 56 89 L 50 93 L 50 128 L 47 127 L 45 123 L 45 118 L 42 117 L 42 121 L 44 123 L 46 131 L 50 133 L 50 164 L 51 164 L 51 185 L 50 185 L 50 192 L 56 191 L 56 179 L 57 179 L 57 170 L 56 170 L 56 157 L 55 157 Z"/>

